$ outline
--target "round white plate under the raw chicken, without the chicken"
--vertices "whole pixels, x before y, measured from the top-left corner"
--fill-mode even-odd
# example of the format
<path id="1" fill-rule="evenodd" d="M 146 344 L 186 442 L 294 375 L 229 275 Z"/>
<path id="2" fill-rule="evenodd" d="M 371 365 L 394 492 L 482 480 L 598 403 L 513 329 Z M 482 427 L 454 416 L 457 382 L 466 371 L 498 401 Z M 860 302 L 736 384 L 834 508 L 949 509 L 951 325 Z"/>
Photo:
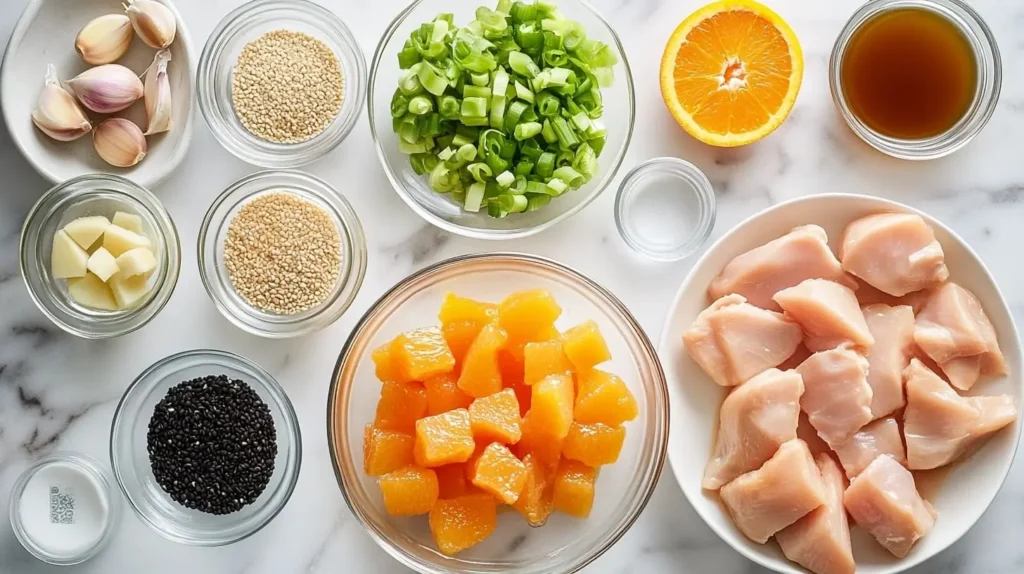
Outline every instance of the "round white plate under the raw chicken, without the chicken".
<path id="1" fill-rule="evenodd" d="M 733 526 L 717 493 L 700 488 L 705 465 L 713 448 L 719 406 L 726 392 L 689 358 L 683 348 L 682 335 L 697 313 L 708 306 L 706 290 L 709 283 L 733 257 L 808 223 L 823 227 L 835 248 L 847 223 L 878 212 L 916 213 L 935 229 L 945 251 L 950 277 L 981 300 L 995 326 L 1010 369 L 1009 377 L 983 381 L 975 392 L 1009 394 L 1014 397 L 1018 409 L 1022 404 L 1024 379 L 1020 340 L 1007 302 L 978 255 L 935 218 L 878 197 L 825 194 L 774 206 L 734 227 L 708 250 L 683 281 L 662 333 L 658 355 L 669 383 L 672 405 L 669 459 L 683 493 L 708 526 L 739 554 L 776 572 L 806 573 L 799 565 L 788 562 L 775 542 L 761 545 L 745 538 Z M 950 467 L 941 484 L 931 485 L 925 495 L 935 504 L 939 518 L 935 528 L 914 544 L 906 558 L 893 557 L 866 532 L 855 528 L 853 551 L 857 572 L 895 574 L 928 560 L 959 539 L 981 518 L 1002 485 L 1017 450 L 1020 429 L 1018 418 L 975 455 Z"/>

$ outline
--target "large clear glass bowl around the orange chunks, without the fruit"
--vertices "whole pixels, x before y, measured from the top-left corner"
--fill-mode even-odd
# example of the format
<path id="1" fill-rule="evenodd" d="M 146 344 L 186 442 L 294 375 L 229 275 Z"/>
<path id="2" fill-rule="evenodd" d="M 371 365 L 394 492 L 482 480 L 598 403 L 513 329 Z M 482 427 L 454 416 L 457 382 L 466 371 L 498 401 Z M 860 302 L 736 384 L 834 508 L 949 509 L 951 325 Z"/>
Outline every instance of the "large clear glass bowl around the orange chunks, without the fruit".
<path id="1" fill-rule="evenodd" d="M 636 396 L 638 417 L 627 423 L 618 461 L 601 468 L 590 518 L 553 514 L 530 528 L 509 509 L 495 533 L 456 557 L 440 554 L 426 517 L 386 514 L 376 480 L 362 472 L 362 430 L 374 420 L 380 384 L 371 352 L 395 335 L 436 322 L 447 292 L 499 301 L 524 289 L 549 290 L 563 312 L 558 327 L 597 321 L 613 357 L 603 365 Z M 355 325 L 338 358 L 328 397 L 328 442 L 338 484 L 367 532 L 398 562 L 431 574 L 575 572 L 607 550 L 640 516 L 657 483 L 668 447 L 665 374 L 650 341 L 613 295 L 554 261 L 521 254 L 462 256 L 407 277 Z"/>

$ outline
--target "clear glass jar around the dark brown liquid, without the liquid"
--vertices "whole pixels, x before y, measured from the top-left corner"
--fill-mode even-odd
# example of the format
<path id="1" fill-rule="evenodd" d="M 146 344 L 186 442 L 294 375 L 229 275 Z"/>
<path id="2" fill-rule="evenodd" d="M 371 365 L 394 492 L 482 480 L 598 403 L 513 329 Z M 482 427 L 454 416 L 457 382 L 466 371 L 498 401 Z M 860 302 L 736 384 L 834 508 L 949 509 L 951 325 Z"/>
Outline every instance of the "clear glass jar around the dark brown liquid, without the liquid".
<path id="1" fill-rule="evenodd" d="M 939 135 L 923 139 L 901 139 L 872 130 L 858 119 L 847 104 L 843 90 L 843 57 L 850 40 L 864 24 L 885 12 L 900 9 L 924 9 L 950 21 L 967 38 L 977 65 L 974 100 L 956 124 Z M 967 145 L 988 123 L 999 99 L 1002 63 L 991 30 L 981 15 L 961 0 L 873 0 L 865 2 L 847 21 L 833 47 L 828 61 L 828 84 L 833 100 L 850 128 L 868 145 L 901 160 L 934 160 Z"/>

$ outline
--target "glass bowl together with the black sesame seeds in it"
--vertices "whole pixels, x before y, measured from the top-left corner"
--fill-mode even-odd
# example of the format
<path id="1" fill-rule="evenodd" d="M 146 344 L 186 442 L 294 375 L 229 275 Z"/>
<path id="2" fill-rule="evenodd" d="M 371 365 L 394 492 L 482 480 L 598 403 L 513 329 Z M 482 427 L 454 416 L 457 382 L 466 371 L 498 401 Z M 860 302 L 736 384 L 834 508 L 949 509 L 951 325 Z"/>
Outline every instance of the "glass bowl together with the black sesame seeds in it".
<path id="1" fill-rule="evenodd" d="M 288 502 L 301 459 L 285 390 L 231 353 L 158 361 L 114 413 L 118 485 L 143 523 L 176 542 L 219 546 L 257 532 Z"/>

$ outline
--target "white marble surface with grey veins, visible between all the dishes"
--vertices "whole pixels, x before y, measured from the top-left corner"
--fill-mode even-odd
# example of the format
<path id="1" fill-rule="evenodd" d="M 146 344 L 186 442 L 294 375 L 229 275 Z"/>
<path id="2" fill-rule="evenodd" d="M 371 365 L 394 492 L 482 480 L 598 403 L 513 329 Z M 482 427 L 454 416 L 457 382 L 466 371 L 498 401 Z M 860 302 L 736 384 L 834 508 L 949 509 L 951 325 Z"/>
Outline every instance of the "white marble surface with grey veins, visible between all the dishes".
<path id="1" fill-rule="evenodd" d="M 27 0 L 3 0 L 0 42 L 6 42 Z M 69 2 L 75 0 L 68 0 Z M 401 0 L 321 0 L 343 14 L 368 59 Z M 178 0 L 197 48 L 240 0 Z M 715 235 L 768 205 L 821 191 L 863 192 L 908 203 L 948 223 L 981 254 L 1018 320 L 1024 319 L 1024 3 L 974 0 L 1004 53 L 998 109 L 977 140 L 951 158 L 913 164 L 867 148 L 833 111 L 828 51 L 856 0 L 772 0 L 799 35 L 806 56 L 797 108 L 778 132 L 741 150 L 705 147 L 685 136 L 662 104 L 657 67 L 665 40 L 703 0 L 597 0 L 625 42 L 637 84 L 637 129 L 626 165 L 677 156 L 705 169 L 719 197 Z M 457 254 L 521 250 L 580 268 L 621 297 L 656 338 L 664 313 L 689 264 L 653 264 L 618 238 L 609 190 L 557 229 L 504 245 L 447 235 L 424 224 L 389 187 L 370 145 L 364 118 L 329 157 L 308 170 L 336 185 L 367 230 L 367 280 L 347 315 L 310 337 L 271 342 L 232 327 L 200 283 L 195 240 L 203 213 L 224 186 L 254 168 L 220 148 L 205 124 L 183 169 L 156 191 L 183 241 L 180 281 L 164 312 L 142 330 L 112 342 L 63 335 L 36 310 L 18 276 L 22 220 L 47 187 L 19 157 L 0 126 L 0 516 L 7 493 L 32 460 L 54 449 L 106 459 L 111 416 L 122 391 L 142 368 L 177 351 L 213 347 L 258 358 L 290 393 L 302 424 L 304 460 L 298 488 L 282 515 L 257 535 L 221 548 L 166 541 L 127 514 L 100 557 L 70 568 L 82 573 L 178 572 L 250 574 L 401 572 L 364 534 L 335 483 L 324 432 L 331 369 L 348 329 L 383 290 L 414 269 Z M 1024 571 L 1024 463 L 992 507 L 956 545 L 915 573 L 986 574 Z M 55 571 L 35 561 L 0 520 L 0 573 Z M 700 522 L 666 468 L 647 511 L 588 572 L 760 572 Z"/>

